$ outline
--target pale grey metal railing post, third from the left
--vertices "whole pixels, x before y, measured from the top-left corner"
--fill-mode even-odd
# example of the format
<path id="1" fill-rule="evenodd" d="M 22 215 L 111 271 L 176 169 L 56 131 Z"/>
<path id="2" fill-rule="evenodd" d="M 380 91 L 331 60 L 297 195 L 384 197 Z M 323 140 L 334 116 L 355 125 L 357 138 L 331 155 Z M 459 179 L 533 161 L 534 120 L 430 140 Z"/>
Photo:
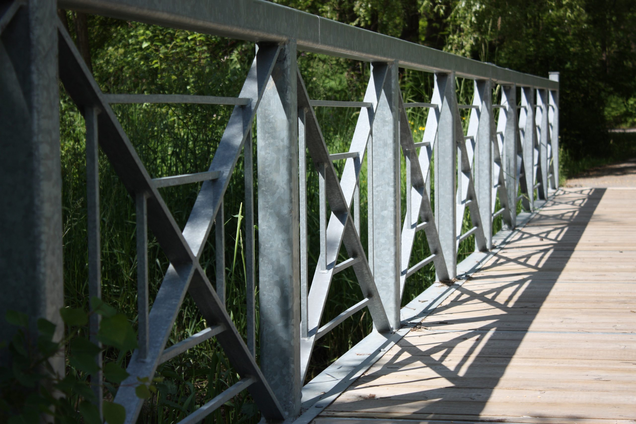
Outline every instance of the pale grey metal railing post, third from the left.
<path id="1" fill-rule="evenodd" d="M 373 276 L 393 329 L 400 326 L 400 156 L 397 63 L 387 77 L 373 119 Z M 375 66 L 375 64 L 371 64 Z M 373 72 L 373 70 L 371 71 Z"/>

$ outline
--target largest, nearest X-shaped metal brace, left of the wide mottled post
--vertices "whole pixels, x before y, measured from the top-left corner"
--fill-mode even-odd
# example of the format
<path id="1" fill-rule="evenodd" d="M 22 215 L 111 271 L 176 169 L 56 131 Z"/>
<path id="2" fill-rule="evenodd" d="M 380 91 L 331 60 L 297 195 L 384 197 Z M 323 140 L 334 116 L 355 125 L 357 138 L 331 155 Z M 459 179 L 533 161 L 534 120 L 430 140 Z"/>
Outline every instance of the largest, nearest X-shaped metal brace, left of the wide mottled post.
<path id="1" fill-rule="evenodd" d="M 99 145 L 128 192 L 133 197 L 139 193 L 146 196 L 148 225 L 170 260 L 149 313 L 148 355 L 142 360 L 135 350 L 127 368 L 130 377 L 121 383 L 115 397 L 115 402 L 126 409 L 126 423 L 137 420 L 143 402 L 135 395 L 137 378 L 152 377 L 162 362 L 162 353 L 186 292 L 190 292 L 208 324 L 218 326 L 220 332 L 216 338 L 263 416 L 267 420 L 283 420 L 279 402 L 198 262 L 280 47 L 262 46 L 258 50 L 239 95 L 250 99 L 251 104 L 234 107 L 209 168 L 211 172 L 218 172 L 219 177 L 203 183 L 182 233 L 61 22 L 58 22 L 58 32 L 60 78 L 81 113 L 86 107 L 100 110 Z M 195 417 L 191 418 L 196 421 Z"/>

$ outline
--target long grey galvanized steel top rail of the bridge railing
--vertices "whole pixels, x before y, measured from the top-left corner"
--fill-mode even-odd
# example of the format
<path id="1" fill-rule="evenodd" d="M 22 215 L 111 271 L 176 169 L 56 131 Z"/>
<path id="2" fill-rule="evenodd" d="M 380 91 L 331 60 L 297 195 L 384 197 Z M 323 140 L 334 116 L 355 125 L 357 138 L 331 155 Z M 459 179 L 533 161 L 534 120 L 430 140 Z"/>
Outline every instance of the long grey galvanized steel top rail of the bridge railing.
<path id="1" fill-rule="evenodd" d="M 60 8 L 429 72 L 558 90 L 558 82 L 435 50 L 263 0 L 59 0 Z M 254 17 L 258 17 L 255 19 Z"/>

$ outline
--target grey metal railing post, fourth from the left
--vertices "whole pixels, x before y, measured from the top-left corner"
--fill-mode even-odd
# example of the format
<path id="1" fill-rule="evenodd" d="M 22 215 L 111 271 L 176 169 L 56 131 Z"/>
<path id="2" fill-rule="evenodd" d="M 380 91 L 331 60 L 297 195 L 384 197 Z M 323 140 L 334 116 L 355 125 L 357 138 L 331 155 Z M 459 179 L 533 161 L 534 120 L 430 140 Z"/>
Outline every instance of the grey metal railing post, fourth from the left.
<path id="1" fill-rule="evenodd" d="M 455 186 L 457 183 L 457 97 L 455 73 L 435 74 L 433 99 L 439 107 L 438 140 L 433 150 L 435 183 L 435 224 L 439 247 L 444 254 L 448 278 L 457 277 L 457 229 L 455 228 Z"/>

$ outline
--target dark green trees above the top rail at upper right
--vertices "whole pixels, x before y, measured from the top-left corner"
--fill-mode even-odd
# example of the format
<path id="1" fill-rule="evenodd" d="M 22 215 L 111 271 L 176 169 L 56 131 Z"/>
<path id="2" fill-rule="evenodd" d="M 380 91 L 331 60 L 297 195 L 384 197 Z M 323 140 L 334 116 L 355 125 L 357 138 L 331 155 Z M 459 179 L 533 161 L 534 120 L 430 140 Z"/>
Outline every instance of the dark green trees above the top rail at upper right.
<path id="1" fill-rule="evenodd" d="M 605 156 L 606 128 L 636 125 L 632 0 L 275 3 L 516 71 L 559 71 L 561 144 L 570 160 Z"/>

